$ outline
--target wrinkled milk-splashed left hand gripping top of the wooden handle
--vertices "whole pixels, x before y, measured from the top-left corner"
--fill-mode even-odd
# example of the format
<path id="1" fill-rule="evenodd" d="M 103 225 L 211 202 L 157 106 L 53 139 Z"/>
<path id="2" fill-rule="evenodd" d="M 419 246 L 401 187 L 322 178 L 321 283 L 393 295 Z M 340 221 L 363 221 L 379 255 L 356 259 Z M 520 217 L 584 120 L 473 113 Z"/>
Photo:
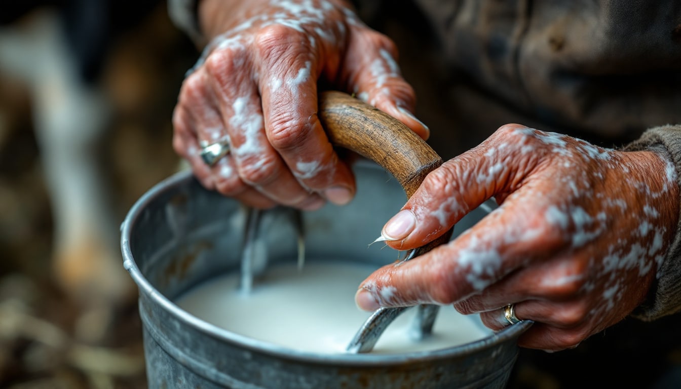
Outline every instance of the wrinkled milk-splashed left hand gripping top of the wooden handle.
<path id="1" fill-rule="evenodd" d="M 394 43 L 345 1 L 202 0 L 199 14 L 211 39 L 180 89 L 173 145 L 204 187 L 257 208 L 349 202 L 353 174 L 319 123 L 319 84 L 428 137 Z M 231 153 L 206 166 L 199 145 L 223 139 Z"/>

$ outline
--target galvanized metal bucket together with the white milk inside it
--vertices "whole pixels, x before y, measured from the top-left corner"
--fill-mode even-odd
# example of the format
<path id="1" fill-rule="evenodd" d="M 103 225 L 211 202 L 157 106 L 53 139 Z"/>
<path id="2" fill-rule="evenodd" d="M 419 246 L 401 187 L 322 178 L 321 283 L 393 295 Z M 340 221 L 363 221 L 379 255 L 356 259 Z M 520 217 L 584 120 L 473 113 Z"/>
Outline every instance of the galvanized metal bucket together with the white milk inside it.
<path id="1" fill-rule="evenodd" d="M 505 387 L 518 357 L 516 341 L 531 322 L 492 334 L 479 317 L 441 307 L 434 335 L 426 340 L 435 344 L 413 344 L 407 317 L 417 313 L 413 308 L 387 327 L 375 352 L 344 352 L 369 316 L 355 307 L 358 285 L 397 256 L 378 245 L 368 248 L 367 236 L 376 236 L 405 202 L 384 170 L 357 164 L 355 173 L 362 189 L 350 204 L 303 213 L 308 256 L 302 273 L 295 230 L 264 230 L 270 264 L 249 296 L 240 294 L 244 234 L 243 223 L 234 222 L 242 220 L 238 202 L 207 191 L 189 171 L 136 202 L 121 225 L 121 251 L 140 291 L 149 389 Z M 483 216 L 473 210 L 457 223 L 458 232 Z M 202 307 L 207 312 L 197 310 Z M 454 340 L 446 343 L 447 336 Z M 475 341 L 460 344 L 469 340 Z M 395 342 L 429 349 L 392 351 Z M 297 351 L 316 346 L 326 351 Z"/>

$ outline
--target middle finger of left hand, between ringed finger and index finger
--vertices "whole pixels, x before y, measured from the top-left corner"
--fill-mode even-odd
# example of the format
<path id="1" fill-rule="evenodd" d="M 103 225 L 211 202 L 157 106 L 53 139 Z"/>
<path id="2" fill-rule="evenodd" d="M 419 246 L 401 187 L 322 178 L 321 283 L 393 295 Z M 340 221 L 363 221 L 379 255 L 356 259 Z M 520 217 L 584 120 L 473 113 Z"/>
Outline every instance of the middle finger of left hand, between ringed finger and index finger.
<path id="1" fill-rule="evenodd" d="M 303 209 L 316 209 L 323 204 L 314 193 L 309 193 L 298 183 L 272 148 L 264 130 L 262 106 L 254 82 L 234 84 L 234 74 L 251 73 L 243 61 L 233 61 L 232 50 L 221 50 L 206 61 L 210 84 L 220 102 L 219 110 L 223 125 L 229 134 L 231 156 L 242 183 L 254 187 L 260 193 L 279 204 Z M 236 64 L 235 64 L 236 63 Z M 227 192 L 229 185 L 238 181 L 225 181 L 221 187 Z"/>

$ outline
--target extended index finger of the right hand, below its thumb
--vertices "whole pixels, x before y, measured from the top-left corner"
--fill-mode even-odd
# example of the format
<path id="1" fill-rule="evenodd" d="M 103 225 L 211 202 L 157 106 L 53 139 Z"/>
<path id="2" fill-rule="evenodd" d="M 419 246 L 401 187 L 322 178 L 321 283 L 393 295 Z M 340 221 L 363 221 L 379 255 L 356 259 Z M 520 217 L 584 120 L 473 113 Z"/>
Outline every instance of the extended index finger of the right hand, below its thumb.
<path id="1" fill-rule="evenodd" d="M 510 198 L 445 245 L 413 260 L 379 268 L 360 285 L 355 297 L 358 306 L 373 311 L 377 307 L 452 304 L 481 292 L 524 264 L 562 250 L 566 243 L 560 230 L 543 223 L 543 213 L 537 211 L 535 202 L 519 199 L 522 196 Z"/>

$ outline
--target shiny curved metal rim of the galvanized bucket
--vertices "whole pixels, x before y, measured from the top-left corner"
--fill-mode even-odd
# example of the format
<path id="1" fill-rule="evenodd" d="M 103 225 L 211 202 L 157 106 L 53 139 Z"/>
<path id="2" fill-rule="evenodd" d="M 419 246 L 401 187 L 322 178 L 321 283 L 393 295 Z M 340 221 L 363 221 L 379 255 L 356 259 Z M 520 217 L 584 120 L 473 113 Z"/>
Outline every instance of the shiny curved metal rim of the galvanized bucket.
<path id="1" fill-rule="evenodd" d="M 369 162 L 370 165 L 373 164 L 373 162 Z M 382 169 L 377 164 L 375 164 L 375 166 L 379 169 Z M 137 266 L 131 250 L 131 232 L 135 222 L 141 217 L 141 213 L 144 211 L 144 208 L 146 208 L 148 204 L 156 200 L 166 191 L 180 185 L 186 185 L 187 181 L 197 182 L 191 170 L 182 170 L 180 172 L 176 172 L 171 176 L 168 176 L 168 178 L 165 178 L 159 183 L 153 185 L 151 189 L 148 189 L 148 191 L 146 191 L 133 204 L 133 206 L 131 206 L 127 215 L 125 216 L 125 219 L 123 220 L 123 223 L 121 223 L 121 253 L 123 254 L 123 267 L 128 271 L 133 281 L 138 285 L 140 294 L 146 294 L 146 296 L 161 305 L 162 309 L 175 317 L 176 320 L 183 322 L 195 330 L 203 332 L 209 337 L 227 341 L 232 345 L 238 345 L 238 347 L 249 349 L 251 352 L 269 354 L 278 358 L 301 360 L 308 363 L 312 362 L 318 364 L 353 365 L 360 363 L 365 366 L 380 366 L 414 361 L 441 360 L 443 358 L 456 358 L 458 356 L 463 356 L 464 354 L 473 354 L 480 352 L 487 347 L 493 347 L 494 345 L 515 339 L 519 337 L 520 334 L 528 330 L 528 328 L 530 328 L 530 326 L 533 324 L 531 320 L 522 320 L 516 324 L 507 326 L 501 330 L 498 330 L 497 332 L 489 334 L 486 337 L 482 337 L 467 343 L 461 343 L 460 345 L 453 347 L 417 352 L 386 354 L 308 352 L 276 345 L 266 341 L 260 341 L 242 334 L 230 332 L 225 328 L 221 328 L 215 324 L 211 324 L 198 317 L 195 317 L 194 315 L 191 315 L 191 313 L 178 307 L 178 305 L 172 302 L 170 298 L 166 297 L 159 290 L 157 290 L 142 274 L 142 271 Z M 144 325 L 146 326 L 147 324 L 144 323 Z"/>

